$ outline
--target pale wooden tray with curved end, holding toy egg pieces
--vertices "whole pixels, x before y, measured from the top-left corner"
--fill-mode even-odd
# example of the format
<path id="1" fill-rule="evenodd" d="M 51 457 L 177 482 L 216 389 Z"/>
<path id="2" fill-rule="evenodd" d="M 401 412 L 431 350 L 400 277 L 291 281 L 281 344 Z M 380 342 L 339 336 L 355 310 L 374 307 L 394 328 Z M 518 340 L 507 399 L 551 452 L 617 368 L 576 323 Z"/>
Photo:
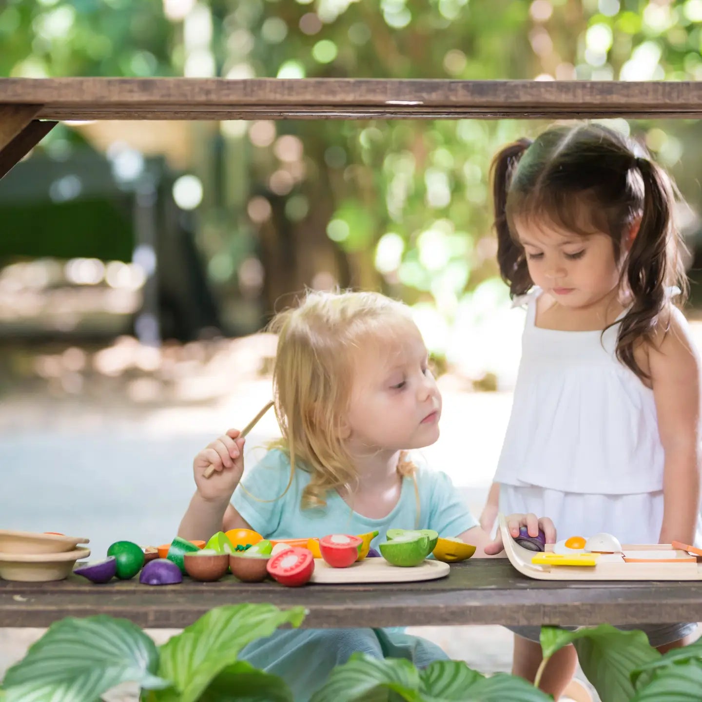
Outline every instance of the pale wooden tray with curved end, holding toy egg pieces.
<path id="1" fill-rule="evenodd" d="M 589 581 L 702 580 L 702 563 L 696 558 L 691 559 L 686 550 L 673 548 L 667 543 L 625 544 L 621 547 L 624 557 L 616 553 L 602 553 L 597 558 L 597 565 L 590 567 L 536 565 L 531 562 L 535 552 L 515 542 L 507 528 L 504 515 L 499 515 L 499 522 L 505 553 L 512 566 L 527 578 Z M 636 562 L 637 555 L 642 557 L 642 562 Z M 661 562 L 651 562 L 658 556 Z"/>

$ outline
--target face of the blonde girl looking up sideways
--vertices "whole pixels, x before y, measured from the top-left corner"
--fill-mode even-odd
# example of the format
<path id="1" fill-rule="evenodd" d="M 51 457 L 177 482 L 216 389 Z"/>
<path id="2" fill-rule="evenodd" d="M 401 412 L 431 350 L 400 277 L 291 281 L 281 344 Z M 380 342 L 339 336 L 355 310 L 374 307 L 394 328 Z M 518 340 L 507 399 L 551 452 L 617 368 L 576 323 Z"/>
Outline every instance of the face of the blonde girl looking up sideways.
<path id="1" fill-rule="evenodd" d="M 416 326 L 363 343 L 354 360 L 346 417 L 352 452 L 418 449 L 439 438 L 442 399 Z"/>

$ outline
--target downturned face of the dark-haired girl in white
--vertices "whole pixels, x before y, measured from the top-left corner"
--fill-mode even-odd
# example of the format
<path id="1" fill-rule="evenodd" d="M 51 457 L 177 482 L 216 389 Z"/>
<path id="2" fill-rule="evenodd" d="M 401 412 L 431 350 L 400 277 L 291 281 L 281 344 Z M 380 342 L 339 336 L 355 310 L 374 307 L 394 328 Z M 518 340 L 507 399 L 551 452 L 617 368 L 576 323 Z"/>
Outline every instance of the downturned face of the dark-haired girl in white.
<path id="1" fill-rule="evenodd" d="M 588 236 L 553 225 L 515 222 L 535 285 L 563 307 L 590 307 L 618 289 L 621 266 L 607 234 Z"/>

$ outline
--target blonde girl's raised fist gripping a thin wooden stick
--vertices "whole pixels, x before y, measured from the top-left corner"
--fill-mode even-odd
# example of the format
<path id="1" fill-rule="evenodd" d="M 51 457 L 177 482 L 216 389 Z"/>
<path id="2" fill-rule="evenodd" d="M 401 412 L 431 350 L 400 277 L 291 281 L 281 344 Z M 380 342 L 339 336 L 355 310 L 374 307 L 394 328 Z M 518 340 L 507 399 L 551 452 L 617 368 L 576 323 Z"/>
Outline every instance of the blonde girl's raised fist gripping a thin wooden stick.
<path id="1" fill-rule="evenodd" d="M 230 429 L 202 449 L 192 462 L 197 491 L 206 501 L 229 501 L 244 472 L 244 437 L 238 429 Z M 213 474 L 204 472 L 214 466 Z"/>

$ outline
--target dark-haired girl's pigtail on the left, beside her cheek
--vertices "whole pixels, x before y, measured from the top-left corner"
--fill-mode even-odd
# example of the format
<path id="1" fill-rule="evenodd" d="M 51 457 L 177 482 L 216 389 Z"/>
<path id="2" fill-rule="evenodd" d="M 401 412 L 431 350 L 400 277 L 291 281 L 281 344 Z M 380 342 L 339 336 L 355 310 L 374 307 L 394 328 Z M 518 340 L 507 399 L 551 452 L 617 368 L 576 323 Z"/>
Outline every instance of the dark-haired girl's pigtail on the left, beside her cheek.
<path id="1" fill-rule="evenodd" d="M 510 286 L 510 296 L 523 295 L 533 285 L 527 270 L 524 250 L 512 238 L 507 219 L 507 194 L 519 159 L 531 145 L 529 139 L 519 139 L 506 146 L 490 166 L 497 233 L 497 262 L 502 279 Z"/>

